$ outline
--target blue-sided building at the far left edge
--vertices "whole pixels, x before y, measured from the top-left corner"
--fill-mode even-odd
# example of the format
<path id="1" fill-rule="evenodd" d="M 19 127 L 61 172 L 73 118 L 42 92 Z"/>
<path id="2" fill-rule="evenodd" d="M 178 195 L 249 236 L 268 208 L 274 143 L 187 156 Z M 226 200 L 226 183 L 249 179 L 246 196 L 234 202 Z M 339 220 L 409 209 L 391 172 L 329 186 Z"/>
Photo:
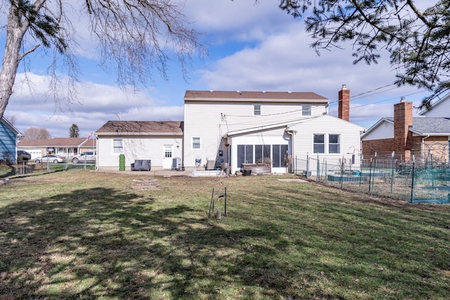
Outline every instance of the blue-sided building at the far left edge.
<path id="1" fill-rule="evenodd" d="M 0 161 L 8 164 L 17 162 L 18 139 L 23 136 L 13 124 L 2 117 L 0 119 Z"/>

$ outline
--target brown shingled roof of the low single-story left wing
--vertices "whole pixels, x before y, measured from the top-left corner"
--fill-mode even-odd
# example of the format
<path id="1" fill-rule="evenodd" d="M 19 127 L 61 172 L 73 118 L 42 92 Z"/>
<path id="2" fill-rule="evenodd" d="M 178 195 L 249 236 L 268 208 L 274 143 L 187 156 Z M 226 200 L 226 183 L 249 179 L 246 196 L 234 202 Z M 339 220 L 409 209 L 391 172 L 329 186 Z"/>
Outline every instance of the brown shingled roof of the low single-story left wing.
<path id="1" fill-rule="evenodd" d="M 127 133 L 129 135 L 183 135 L 184 122 L 177 121 L 108 121 L 95 132 L 97 135 Z"/>

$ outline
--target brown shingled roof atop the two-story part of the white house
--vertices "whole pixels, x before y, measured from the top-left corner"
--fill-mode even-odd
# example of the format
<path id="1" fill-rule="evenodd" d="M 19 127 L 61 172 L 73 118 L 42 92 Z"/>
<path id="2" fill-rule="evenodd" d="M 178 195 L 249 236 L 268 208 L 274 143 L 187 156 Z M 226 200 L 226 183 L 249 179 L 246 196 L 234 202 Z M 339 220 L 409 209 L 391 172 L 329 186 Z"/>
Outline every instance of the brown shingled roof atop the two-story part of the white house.
<path id="1" fill-rule="evenodd" d="M 186 91 L 184 101 L 242 102 L 311 102 L 330 103 L 328 98 L 313 92 L 290 91 Z"/>

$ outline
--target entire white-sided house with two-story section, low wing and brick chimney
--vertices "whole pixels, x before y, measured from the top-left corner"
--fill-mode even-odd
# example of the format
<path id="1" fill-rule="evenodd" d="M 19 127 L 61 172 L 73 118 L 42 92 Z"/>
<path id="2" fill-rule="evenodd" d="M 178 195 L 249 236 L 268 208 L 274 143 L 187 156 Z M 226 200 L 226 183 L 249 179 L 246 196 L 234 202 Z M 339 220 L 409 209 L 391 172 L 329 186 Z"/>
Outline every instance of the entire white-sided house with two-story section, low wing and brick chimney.
<path id="1" fill-rule="evenodd" d="M 330 100 L 312 92 L 186 91 L 184 122 L 109 121 L 98 129 L 98 168 L 151 159 L 152 169 L 229 169 L 269 164 L 285 173 L 295 157 L 352 159 L 364 128 L 349 122 L 349 90 L 339 91 L 339 117 Z M 356 157 L 359 164 L 359 157 Z"/>

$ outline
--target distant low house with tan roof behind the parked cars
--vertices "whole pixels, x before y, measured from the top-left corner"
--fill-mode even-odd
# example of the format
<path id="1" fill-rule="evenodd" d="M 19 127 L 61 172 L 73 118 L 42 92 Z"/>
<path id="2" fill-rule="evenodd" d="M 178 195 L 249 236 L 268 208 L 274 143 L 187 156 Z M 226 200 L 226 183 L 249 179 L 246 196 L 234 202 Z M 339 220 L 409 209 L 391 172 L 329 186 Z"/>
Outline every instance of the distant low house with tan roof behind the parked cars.
<path id="1" fill-rule="evenodd" d="M 21 140 L 18 150 L 30 152 L 31 159 L 56 154 L 70 159 L 73 155 L 96 150 L 95 138 L 51 138 L 49 140 Z"/>

